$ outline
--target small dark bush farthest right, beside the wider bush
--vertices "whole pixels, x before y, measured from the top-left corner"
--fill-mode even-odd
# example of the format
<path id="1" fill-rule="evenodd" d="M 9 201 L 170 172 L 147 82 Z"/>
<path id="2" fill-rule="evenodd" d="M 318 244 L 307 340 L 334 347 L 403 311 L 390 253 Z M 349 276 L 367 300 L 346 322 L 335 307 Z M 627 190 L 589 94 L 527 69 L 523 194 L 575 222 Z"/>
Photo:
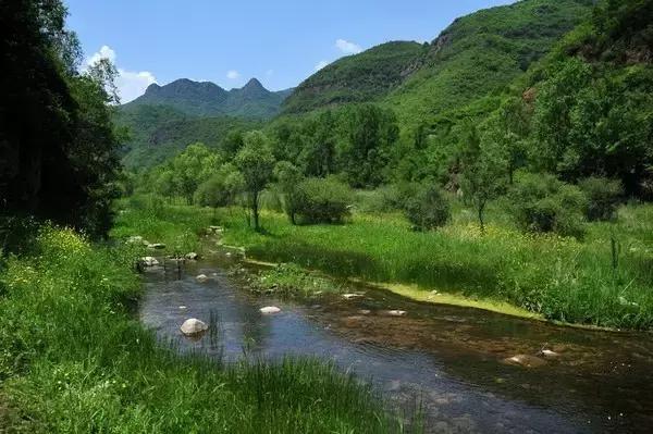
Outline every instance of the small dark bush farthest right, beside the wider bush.
<path id="1" fill-rule="evenodd" d="M 589 177 L 578 186 L 588 199 L 586 216 L 589 221 L 609 221 L 616 216 L 617 206 L 624 195 L 624 187 L 619 181 Z"/>

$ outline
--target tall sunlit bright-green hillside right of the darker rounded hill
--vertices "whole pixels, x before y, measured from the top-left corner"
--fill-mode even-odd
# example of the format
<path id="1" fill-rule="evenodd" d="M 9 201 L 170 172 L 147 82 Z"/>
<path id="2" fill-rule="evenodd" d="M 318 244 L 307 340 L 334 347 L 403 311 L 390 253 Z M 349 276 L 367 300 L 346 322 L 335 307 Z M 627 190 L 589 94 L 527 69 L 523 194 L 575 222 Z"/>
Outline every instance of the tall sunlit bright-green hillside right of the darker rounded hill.
<path id="1" fill-rule="evenodd" d="M 386 99 L 405 127 L 498 92 L 589 16 L 592 0 L 525 0 L 456 20 Z"/>

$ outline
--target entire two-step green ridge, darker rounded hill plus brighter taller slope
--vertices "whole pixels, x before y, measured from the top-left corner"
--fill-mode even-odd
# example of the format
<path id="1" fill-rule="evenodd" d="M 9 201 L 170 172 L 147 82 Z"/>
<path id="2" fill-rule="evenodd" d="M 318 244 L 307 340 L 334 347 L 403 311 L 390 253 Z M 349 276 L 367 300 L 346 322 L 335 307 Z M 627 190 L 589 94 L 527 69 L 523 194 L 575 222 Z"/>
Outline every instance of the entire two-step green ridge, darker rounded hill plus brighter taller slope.
<path id="1" fill-rule="evenodd" d="M 523 0 L 456 20 L 433 42 L 392 42 L 309 77 L 284 112 L 384 100 L 419 123 L 509 84 L 588 17 L 592 0 Z"/>

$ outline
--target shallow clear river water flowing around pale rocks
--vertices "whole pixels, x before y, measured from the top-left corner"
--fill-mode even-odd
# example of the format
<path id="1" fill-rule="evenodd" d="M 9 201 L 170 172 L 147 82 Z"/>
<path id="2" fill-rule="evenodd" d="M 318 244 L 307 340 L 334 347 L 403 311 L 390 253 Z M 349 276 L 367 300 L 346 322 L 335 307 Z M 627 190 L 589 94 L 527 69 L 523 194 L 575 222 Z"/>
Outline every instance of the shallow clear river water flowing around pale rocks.
<path id="1" fill-rule="evenodd" d="M 372 382 L 390 406 L 419 401 L 427 432 L 653 432 L 651 334 L 562 327 L 371 287 L 354 300 L 266 298 L 227 275 L 230 262 L 220 255 L 181 274 L 146 273 L 141 321 L 182 351 L 227 361 L 333 361 Z M 200 273 L 210 280 L 198 283 Z M 266 306 L 282 312 L 263 315 Z M 406 315 L 387 314 L 397 309 Z M 188 318 L 211 321 L 218 332 L 184 338 L 180 325 Z M 539 356 L 542 348 L 557 356 Z M 537 359 L 530 368 L 506 362 L 517 355 Z"/>

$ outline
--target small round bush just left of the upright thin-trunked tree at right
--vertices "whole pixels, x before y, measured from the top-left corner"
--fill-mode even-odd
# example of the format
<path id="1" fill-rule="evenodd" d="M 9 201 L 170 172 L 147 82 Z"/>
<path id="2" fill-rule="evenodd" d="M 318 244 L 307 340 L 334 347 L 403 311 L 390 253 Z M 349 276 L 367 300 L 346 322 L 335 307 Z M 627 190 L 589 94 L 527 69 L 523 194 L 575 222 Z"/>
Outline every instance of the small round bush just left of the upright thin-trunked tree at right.
<path id="1" fill-rule="evenodd" d="M 448 201 L 435 186 L 419 188 L 404 201 L 404 211 L 418 231 L 444 226 L 452 216 Z"/>

